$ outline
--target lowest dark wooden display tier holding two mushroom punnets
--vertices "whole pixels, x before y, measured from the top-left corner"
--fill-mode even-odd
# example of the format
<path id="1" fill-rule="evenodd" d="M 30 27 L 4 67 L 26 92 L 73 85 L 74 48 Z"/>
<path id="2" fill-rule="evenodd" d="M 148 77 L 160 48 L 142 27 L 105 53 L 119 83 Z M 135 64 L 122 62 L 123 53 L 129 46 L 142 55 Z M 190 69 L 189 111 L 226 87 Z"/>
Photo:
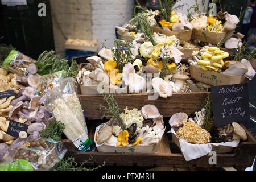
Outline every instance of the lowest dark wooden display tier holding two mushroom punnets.
<path id="1" fill-rule="evenodd" d="M 166 120 L 164 120 L 166 123 Z M 94 139 L 95 128 L 100 125 L 102 121 L 86 121 L 88 125 L 89 137 Z M 105 121 L 104 121 L 105 122 Z M 217 154 L 217 164 L 214 167 L 234 167 L 236 169 L 245 169 L 253 164 L 256 154 L 256 140 L 241 125 L 247 133 L 246 142 L 241 142 L 236 149 L 228 154 Z M 166 131 L 170 129 L 167 126 Z M 138 153 L 111 153 L 111 152 L 79 152 L 76 151 L 75 146 L 71 140 L 63 140 L 65 146 L 68 148 L 66 156 L 72 156 L 76 162 L 84 163 L 86 159 L 93 156 L 90 162 L 86 165 L 98 165 L 106 162 L 107 166 L 138 166 L 138 167 L 213 167 L 209 164 L 211 156 L 205 155 L 201 158 L 186 162 L 183 154 L 181 154 L 176 144 L 172 143 L 171 134 L 164 133 L 159 150 L 156 154 L 138 154 Z"/>

